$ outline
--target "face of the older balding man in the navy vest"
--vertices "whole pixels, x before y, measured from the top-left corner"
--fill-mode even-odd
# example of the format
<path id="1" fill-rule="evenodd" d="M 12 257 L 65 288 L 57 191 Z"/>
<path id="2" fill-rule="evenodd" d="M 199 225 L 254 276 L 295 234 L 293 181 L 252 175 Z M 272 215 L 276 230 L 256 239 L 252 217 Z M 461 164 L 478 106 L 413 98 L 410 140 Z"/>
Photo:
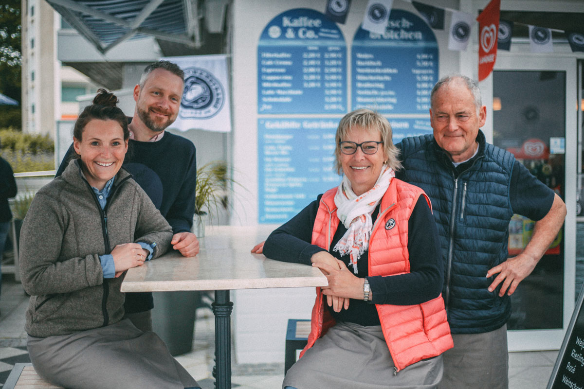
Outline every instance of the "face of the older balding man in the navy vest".
<path id="1" fill-rule="evenodd" d="M 460 80 L 444 84 L 433 96 L 430 124 L 434 139 L 453 162 L 464 162 L 474 155 L 478 130 L 485 119 L 486 107 L 477 110 L 471 91 Z"/>

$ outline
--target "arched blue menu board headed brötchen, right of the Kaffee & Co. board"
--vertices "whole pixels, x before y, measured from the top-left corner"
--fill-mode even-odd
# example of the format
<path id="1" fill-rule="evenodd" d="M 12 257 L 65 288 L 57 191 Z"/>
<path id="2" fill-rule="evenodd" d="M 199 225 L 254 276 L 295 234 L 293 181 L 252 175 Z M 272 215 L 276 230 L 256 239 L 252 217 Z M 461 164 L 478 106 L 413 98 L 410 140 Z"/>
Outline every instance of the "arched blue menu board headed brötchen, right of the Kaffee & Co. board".
<path id="1" fill-rule="evenodd" d="M 392 9 L 383 35 L 359 27 L 351 53 L 352 109 L 412 115 L 411 127 L 394 134 L 425 134 L 430 128 L 430 92 L 438 77 L 438 43 L 432 29 L 411 12 Z M 413 118 L 424 118 L 416 125 Z M 395 140 L 395 139 L 394 139 Z"/>

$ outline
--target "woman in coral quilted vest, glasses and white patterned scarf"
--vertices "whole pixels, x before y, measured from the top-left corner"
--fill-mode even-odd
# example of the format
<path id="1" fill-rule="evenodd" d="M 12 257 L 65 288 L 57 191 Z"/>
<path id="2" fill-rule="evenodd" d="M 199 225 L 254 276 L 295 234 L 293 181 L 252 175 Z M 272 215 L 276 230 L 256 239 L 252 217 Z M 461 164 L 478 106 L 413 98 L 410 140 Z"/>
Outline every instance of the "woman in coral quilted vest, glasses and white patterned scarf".
<path id="1" fill-rule="evenodd" d="M 453 346 L 430 200 L 395 178 L 390 123 L 353 111 L 336 131 L 343 178 L 274 230 L 263 253 L 318 267 L 311 332 L 285 389 L 433 388 Z"/>

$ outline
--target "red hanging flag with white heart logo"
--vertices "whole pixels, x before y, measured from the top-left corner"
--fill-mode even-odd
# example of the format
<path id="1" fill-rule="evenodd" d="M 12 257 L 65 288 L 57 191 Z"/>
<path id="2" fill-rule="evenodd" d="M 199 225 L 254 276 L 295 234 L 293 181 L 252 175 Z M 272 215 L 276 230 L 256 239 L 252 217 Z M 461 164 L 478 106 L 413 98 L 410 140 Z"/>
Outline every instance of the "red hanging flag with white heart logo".
<path id="1" fill-rule="evenodd" d="M 491 74 L 497 59 L 497 37 L 499 35 L 500 0 L 491 0 L 481 15 L 479 23 L 478 80 L 482 81 Z"/>

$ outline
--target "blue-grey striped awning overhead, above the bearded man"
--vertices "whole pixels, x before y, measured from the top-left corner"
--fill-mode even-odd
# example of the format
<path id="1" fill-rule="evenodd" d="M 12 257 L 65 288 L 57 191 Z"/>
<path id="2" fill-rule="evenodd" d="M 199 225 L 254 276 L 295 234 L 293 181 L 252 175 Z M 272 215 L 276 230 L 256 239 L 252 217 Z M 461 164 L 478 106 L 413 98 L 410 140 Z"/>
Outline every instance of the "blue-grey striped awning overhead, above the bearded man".
<path id="1" fill-rule="evenodd" d="M 197 0 L 47 0 L 97 50 L 144 36 L 201 45 Z"/>

